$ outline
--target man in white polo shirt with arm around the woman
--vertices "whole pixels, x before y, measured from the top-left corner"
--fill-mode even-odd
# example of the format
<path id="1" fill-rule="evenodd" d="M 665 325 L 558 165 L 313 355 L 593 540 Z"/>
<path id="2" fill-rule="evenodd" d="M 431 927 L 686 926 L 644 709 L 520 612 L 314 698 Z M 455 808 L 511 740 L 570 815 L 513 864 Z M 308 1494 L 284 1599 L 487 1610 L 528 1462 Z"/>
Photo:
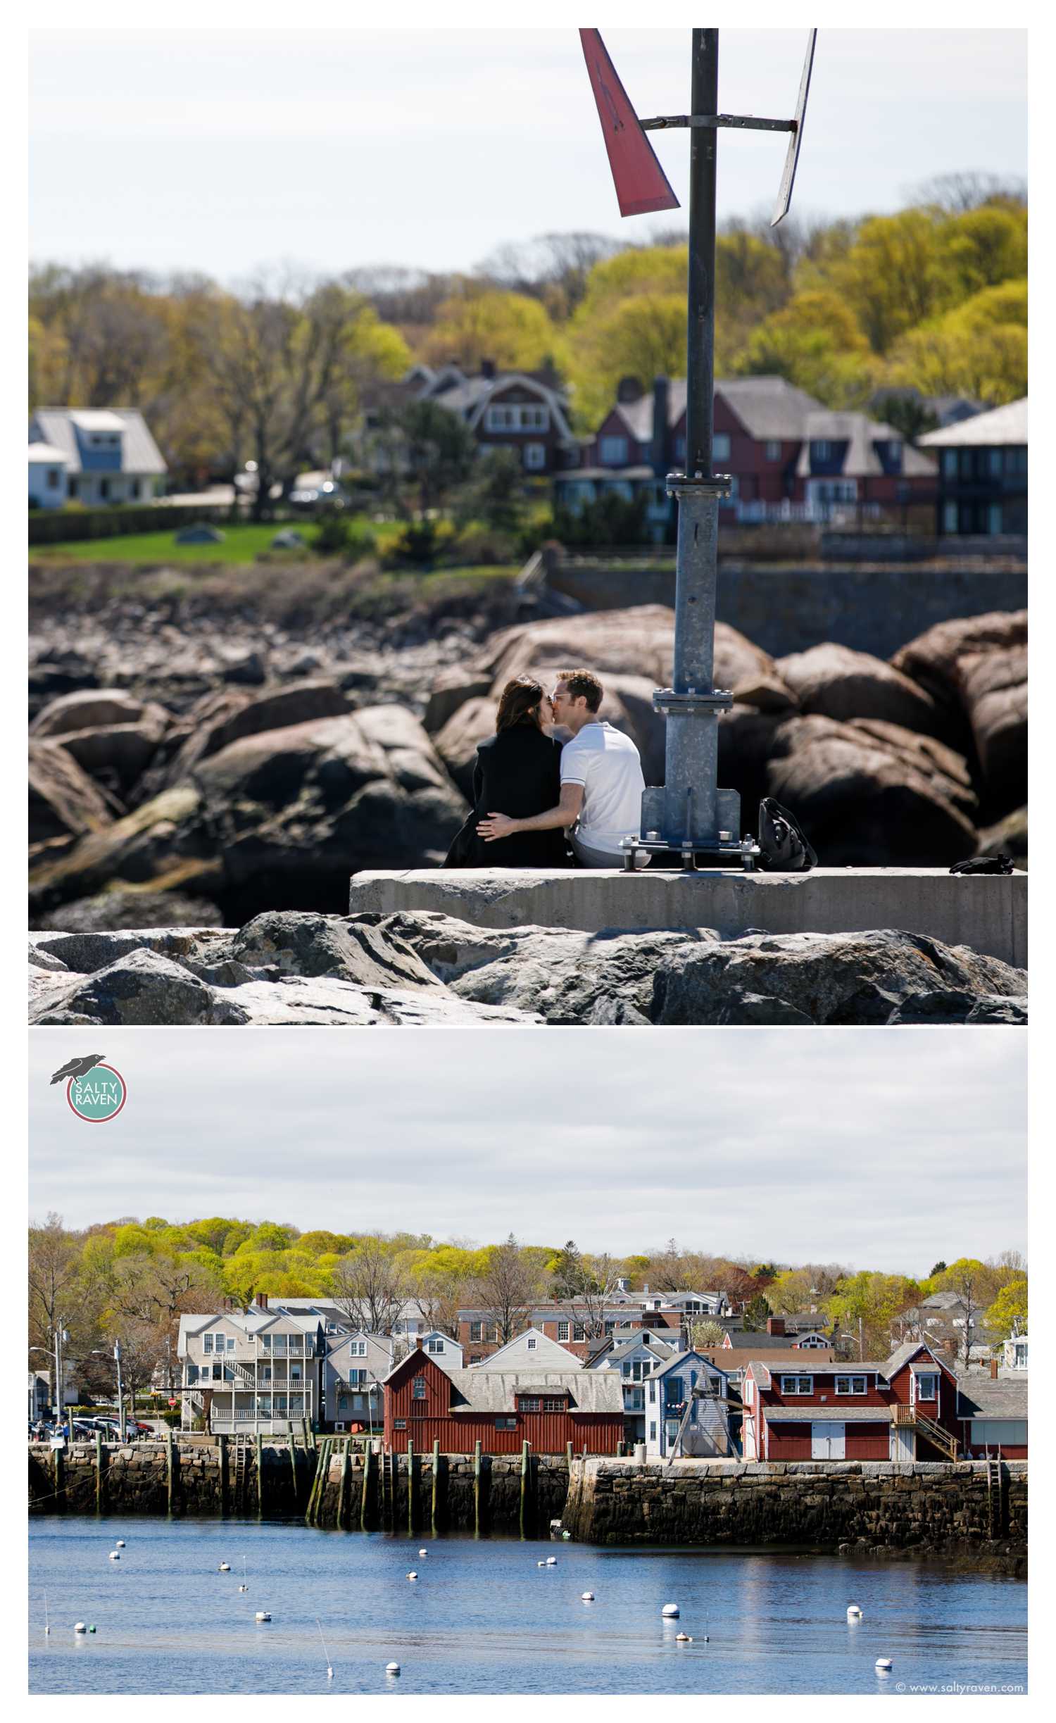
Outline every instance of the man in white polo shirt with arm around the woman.
<path id="1" fill-rule="evenodd" d="M 641 796 L 646 781 L 641 756 L 629 736 L 598 717 L 605 689 L 591 670 L 562 670 L 551 694 L 555 727 L 568 734 L 562 748 L 562 799 L 556 808 L 512 820 L 489 810 L 477 822 L 486 843 L 512 832 L 568 830 L 581 867 L 622 867 L 622 837 L 641 830 Z M 637 851 L 639 867 L 649 862 Z"/>

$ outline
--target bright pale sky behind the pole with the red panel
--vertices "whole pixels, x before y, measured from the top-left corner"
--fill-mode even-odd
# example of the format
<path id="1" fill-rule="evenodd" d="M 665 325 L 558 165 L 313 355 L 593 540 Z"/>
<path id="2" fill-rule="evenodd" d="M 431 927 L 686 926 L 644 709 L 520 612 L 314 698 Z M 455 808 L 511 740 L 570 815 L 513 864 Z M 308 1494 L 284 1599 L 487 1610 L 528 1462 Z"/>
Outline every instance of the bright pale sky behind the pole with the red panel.
<path id="1" fill-rule="evenodd" d="M 238 29 L 31 33 L 34 260 L 222 281 L 277 260 L 443 271 L 541 233 L 643 241 L 682 221 L 620 221 L 574 28 L 291 31 L 258 28 L 255 9 L 236 17 Z M 687 110 L 687 29 L 605 40 L 643 117 Z M 804 41 L 804 29 L 724 29 L 722 110 L 789 117 Z M 684 207 L 686 131 L 653 143 Z M 722 134 L 720 217 L 770 210 L 786 143 Z M 970 169 L 1027 174 L 1023 29 L 820 31 L 801 215 L 892 210 L 923 179 Z"/>

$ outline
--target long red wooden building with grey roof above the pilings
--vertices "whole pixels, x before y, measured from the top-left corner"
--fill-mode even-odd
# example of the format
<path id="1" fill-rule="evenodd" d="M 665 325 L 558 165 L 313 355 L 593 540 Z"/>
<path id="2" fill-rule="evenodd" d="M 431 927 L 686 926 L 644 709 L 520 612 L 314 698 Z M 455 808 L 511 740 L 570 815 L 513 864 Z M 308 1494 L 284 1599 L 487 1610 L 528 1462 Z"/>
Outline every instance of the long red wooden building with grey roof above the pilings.
<path id="1" fill-rule="evenodd" d="M 610 1370 L 443 1370 L 417 1346 L 382 1384 L 384 1449 L 443 1454 L 615 1454 L 624 1390 Z"/>

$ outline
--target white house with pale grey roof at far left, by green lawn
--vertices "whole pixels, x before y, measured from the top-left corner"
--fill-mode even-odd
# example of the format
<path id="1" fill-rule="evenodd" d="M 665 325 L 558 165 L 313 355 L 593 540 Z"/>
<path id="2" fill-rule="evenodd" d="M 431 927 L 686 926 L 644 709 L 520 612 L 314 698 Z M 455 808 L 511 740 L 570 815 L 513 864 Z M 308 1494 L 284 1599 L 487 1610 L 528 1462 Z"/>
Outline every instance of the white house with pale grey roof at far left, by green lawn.
<path id="1" fill-rule="evenodd" d="M 136 407 L 38 407 L 29 420 L 29 496 L 40 507 L 152 503 L 165 495 L 167 472 Z"/>

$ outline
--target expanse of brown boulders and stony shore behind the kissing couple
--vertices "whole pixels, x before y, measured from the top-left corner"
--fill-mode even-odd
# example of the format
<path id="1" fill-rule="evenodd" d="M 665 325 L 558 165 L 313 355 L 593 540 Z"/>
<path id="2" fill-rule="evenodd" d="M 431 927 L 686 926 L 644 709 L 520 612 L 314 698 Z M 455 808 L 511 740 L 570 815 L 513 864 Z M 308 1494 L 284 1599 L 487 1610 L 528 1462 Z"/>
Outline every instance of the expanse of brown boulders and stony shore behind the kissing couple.
<path id="1" fill-rule="evenodd" d="M 663 777 L 660 605 L 494 627 L 501 615 L 296 622 L 148 601 L 34 606 L 29 920 L 241 927 L 338 913 L 363 868 L 438 865 L 510 675 L 572 662 Z M 515 612 L 510 594 L 508 612 Z M 308 634 L 312 638 L 308 638 Z M 772 658 L 718 624 L 720 782 L 803 822 L 823 865 L 949 867 L 1027 853 L 1027 617 L 946 622 L 889 662 L 822 643 Z"/>

